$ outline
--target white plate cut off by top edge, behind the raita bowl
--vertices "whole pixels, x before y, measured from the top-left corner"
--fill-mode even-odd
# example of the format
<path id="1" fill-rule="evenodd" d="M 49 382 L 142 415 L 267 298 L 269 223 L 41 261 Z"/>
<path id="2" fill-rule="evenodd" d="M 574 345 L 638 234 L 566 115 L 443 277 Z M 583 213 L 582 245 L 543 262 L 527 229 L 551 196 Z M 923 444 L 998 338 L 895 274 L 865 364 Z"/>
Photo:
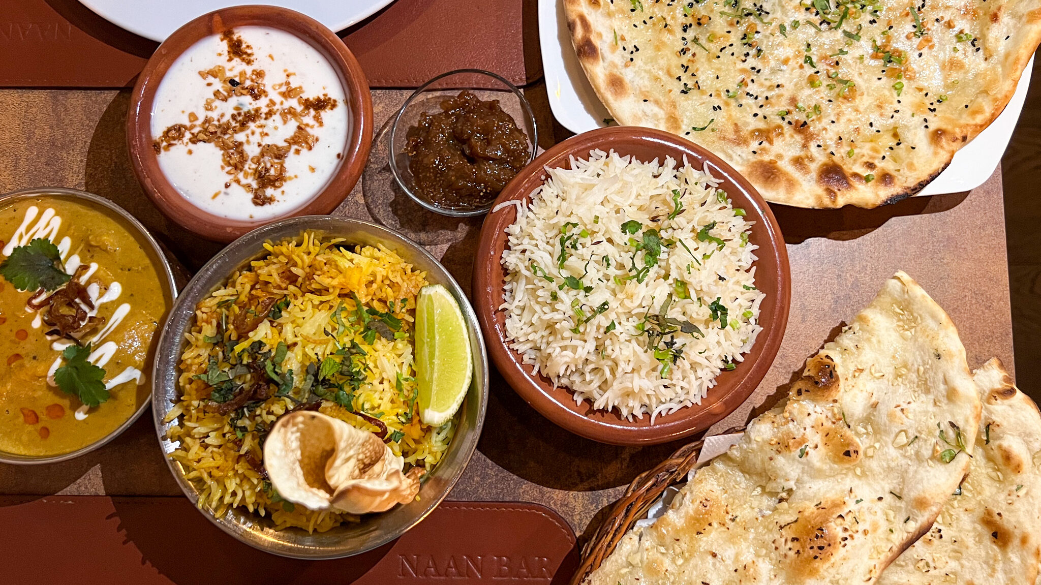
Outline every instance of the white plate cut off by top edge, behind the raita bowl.
<path id="1" fill-rule="evenodd" d="M 303 12 L 331 30 L 364 20 L 393 0 L 80 0 L 99 17 L 134 34 L 162 42 L 196 17 L 238 4 L 270 4 Z"/>

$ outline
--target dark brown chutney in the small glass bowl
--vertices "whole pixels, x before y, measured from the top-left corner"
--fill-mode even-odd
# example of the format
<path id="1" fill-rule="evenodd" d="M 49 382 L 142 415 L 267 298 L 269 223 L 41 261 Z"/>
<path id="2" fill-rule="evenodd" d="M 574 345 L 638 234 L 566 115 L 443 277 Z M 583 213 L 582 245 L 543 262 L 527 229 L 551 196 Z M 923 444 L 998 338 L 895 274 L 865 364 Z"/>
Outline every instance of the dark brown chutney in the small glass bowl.
<path id="1" fill-rule="evenodd" d="M 490 202 L 528 163 L 528 138 L 498 100 L 464 91 L 440 107 L 408 129 L 405 154 L 416 188 L 448 207 Z"/>

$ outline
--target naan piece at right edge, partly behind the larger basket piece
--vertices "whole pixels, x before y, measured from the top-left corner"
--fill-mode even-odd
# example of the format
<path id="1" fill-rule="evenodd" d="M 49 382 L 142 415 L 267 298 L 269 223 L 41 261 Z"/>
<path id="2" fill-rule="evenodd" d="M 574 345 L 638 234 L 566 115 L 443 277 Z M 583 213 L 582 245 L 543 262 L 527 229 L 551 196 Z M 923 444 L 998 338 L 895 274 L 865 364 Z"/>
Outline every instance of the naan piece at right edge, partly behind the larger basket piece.
<path id="1" fill-rule="evenodd" d="M 932 530 L 880 585 L 1034 585 L 1041 563 L 1041 414 L 998 359 L 974 373 L 983 399 L 969 475 Z"/>

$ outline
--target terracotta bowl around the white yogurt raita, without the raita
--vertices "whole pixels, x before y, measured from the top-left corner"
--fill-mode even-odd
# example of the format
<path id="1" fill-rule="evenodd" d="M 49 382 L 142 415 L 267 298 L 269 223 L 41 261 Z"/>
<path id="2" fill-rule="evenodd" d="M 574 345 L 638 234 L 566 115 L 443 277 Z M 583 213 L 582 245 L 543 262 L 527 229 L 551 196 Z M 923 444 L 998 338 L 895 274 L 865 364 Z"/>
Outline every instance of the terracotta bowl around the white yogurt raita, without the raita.
<path id="1" fill-rule="evenodd" d="M 314 47 L 332 65 L 351 108 L 350 131 L 338 168 L 319 194 L 288 213 L 264 220 L 232 220 L 204 211 L 189 202 L 167 179 L 152 149 L 152 106 L 159 83 L 175 60 L 201 39 L 230 28 L 265 26 L 289 32 Z M 127 115 L 127 146 L 134 174 L 155 205 L 182 227 L 217 241 L 231 241 L 271 222 L 329 213 L 339 205 L 361 177 L 373 144 L 373 98 L 361 66 L 347 45 L 320 22 L 277 6 L 233 6 L 203 15 L 159 45 L 137 77 Z"/>

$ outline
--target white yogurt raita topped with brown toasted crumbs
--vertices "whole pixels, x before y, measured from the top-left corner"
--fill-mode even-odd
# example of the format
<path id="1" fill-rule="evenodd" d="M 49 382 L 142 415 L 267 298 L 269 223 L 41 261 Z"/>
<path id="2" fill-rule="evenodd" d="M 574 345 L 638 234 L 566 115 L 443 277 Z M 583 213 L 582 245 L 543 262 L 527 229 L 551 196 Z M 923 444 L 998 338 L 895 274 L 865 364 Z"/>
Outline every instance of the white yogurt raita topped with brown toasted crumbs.
<path id="1" fill-rule="evenodd" d="M 151 131 L 159 168 L 205 211 L 284 215 L 329 182 L 349 108 L 332 66 L 302 39 L 247 26 L 202 39 L 170 67 Z"/>

